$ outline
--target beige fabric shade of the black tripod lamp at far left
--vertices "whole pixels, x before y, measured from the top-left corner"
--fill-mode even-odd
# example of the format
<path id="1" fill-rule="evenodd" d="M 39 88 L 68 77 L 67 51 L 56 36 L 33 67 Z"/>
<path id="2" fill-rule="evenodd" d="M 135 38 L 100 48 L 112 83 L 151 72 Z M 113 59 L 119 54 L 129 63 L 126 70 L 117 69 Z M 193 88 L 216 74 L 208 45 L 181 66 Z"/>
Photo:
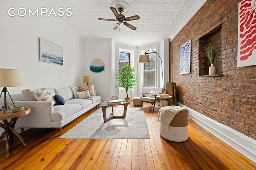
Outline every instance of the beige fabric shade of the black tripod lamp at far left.
<path id="1" fill-rule="evenodd" d="M 19 70 L 0 68 L 0 87 L 16 86 L 22 86 Z"/>

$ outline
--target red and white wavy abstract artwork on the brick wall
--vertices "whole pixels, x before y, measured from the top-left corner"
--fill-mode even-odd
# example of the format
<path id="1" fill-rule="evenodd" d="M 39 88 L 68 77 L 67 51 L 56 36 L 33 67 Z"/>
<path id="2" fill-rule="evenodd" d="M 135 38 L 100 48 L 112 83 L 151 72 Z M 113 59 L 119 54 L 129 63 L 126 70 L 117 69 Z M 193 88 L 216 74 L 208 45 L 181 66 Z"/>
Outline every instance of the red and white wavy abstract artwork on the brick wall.
<path id="1" fill-rule="evenodd" d="M 238 5 L 237 66 L 256 65 L 256 0 L 242 0 Z"/>

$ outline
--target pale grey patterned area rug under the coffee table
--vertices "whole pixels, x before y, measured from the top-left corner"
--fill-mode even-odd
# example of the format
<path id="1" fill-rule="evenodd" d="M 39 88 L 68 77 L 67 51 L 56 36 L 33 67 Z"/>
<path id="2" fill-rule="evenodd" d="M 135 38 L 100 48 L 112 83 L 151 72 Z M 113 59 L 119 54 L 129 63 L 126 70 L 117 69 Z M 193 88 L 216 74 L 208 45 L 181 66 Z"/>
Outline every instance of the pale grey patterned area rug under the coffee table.
<path id="1" fill-rule="evenodd" d="M 122 115 L 123 107 L 114 107 L 114 115 Z M 112 107 L 108 107 L 110 117 Z M 150 139 L 143 108 L 127 108 L 126 118 L 111 119 L 104 123 L 102 108 L 84 119 L 61 139 Z"/>

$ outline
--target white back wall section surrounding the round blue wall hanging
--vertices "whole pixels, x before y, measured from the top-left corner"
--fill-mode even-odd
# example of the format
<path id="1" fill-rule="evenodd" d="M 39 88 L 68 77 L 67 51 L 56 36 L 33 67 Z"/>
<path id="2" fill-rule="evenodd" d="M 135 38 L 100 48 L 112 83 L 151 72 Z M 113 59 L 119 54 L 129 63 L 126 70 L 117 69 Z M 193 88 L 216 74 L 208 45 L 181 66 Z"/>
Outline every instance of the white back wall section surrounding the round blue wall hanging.
<path id="1" fill-rule="evenodd" d="M 85 39 L 83 45 L 83 76 L 92 76 L 93 83 L 90 84 L 94 84 L 94 90 L 96 90 L 97 95 L 101 96 L 102 101 L 111 98 L 111 45 L 111 39 Z M 92 72 L 90 65 L 94 59 L 101 59 L 105 64 L 105 70 Z"/>

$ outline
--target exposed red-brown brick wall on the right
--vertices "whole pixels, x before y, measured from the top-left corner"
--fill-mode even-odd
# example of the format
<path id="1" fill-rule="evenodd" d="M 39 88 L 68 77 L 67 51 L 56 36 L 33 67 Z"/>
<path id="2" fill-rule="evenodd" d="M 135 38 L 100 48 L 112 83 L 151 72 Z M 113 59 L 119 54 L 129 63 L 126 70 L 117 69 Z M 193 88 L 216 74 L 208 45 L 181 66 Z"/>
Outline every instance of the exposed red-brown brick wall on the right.
<path id="1" fill-rule="evenodd" d="M 170 44 L 170 80 L 176 82 L 177 102 L 256 139 L 256 66 L 237 67 L 240 1 L 208 0 L 185 25 Z M 221 52 L 215 66 L 217 74 L 223 76 L 199 77 L 205 62 L 199 45 L 204 39 L 196 38 L 226 17 L 217 33 L 220 35 L 213 38 L 221 37 Z M 191 73 L 180 75 L 180 46 L 189 39 L 192 39 Z"/>

